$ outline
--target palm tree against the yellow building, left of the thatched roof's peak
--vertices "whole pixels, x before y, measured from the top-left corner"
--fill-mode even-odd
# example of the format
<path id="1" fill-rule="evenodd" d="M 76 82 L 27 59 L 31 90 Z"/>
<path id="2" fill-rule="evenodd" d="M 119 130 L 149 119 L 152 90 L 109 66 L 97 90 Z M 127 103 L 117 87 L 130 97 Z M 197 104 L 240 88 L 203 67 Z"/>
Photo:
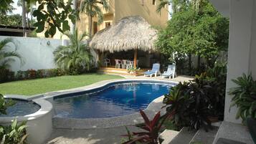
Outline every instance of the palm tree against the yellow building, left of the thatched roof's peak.
<path id="1" fill-rule="evenodd" d="M 103 9 L 108 10 L 109 5 L 107 0 L 81 0 L 80 1 L 80 11 L 84 11 L 89 18 L 89 37 L 92 37 L 93 29 L 93 17 L 98 17 L 98 23 L 103 22 L 103 11 L 100 7 L 103 6 Z"/>

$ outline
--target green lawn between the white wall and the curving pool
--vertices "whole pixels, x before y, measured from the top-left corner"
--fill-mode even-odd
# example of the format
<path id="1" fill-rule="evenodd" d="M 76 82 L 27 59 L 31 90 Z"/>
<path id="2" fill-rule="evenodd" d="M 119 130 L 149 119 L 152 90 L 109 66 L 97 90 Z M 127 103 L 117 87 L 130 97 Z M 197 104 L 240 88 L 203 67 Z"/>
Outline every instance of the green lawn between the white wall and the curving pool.
<path id="1" fill-rule="evenodd" d="M 1 94 L 36 95 L 57 90 L 90 85 L 102 80 L 123 78 L 115 75 L 86 74 L 75 76 L 50 77 L 37 80 L 22 80 L 0 84 Z"/>

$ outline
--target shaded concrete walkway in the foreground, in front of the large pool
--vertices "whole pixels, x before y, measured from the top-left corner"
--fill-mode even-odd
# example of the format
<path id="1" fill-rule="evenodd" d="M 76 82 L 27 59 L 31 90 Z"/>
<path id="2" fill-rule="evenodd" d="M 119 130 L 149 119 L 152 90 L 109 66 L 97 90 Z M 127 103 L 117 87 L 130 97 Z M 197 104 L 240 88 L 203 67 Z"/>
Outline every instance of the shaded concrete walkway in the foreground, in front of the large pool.
<path id="1" fill-rule="evenodd" d="M 129 126 L 128 129 L 133 132 L 141 131 L 133 126 Z M 120 144 L 120 140 L 125 138 L 121 135 L 126 134 L 125 127 L 88 130 L 54 129 L 47 144 Z"/>

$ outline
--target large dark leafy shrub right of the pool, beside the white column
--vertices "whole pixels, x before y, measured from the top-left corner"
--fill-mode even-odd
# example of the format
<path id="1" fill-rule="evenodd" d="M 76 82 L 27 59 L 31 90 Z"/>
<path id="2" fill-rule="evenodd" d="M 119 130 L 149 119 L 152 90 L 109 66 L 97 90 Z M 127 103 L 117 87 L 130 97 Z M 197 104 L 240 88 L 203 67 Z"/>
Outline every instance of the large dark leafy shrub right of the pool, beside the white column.
<path id="1" fill-rule="evenodd" d="M 223 119 L 226 79 L 221 77 L 226 77 L 225 69 L 225 65 L 217 65 L 208 73 L 196 75 L 191 82 L 180 82 L 171 87 L 163 103 L 166 104 L 166 115 L 174 112 L 171 120 L 178 128 L 186 126 L 199 130 L 203 127 L 208 130 L 211 117 Z"/>

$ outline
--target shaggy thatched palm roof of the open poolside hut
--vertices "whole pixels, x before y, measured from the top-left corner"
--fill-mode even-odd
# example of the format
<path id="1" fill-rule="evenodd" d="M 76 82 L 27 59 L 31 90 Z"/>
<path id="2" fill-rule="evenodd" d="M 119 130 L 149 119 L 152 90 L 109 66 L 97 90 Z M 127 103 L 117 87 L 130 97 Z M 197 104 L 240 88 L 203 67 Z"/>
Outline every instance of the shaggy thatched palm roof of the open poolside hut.
<path id="1" fill-rule="evenodd" d="M 90 47 L 100 51 L 120 52 L 131 49 L 154 51 L 157 31 L 141 16 L 128 16 L 117 24 L 99 31 L 90 42 Z"/>

